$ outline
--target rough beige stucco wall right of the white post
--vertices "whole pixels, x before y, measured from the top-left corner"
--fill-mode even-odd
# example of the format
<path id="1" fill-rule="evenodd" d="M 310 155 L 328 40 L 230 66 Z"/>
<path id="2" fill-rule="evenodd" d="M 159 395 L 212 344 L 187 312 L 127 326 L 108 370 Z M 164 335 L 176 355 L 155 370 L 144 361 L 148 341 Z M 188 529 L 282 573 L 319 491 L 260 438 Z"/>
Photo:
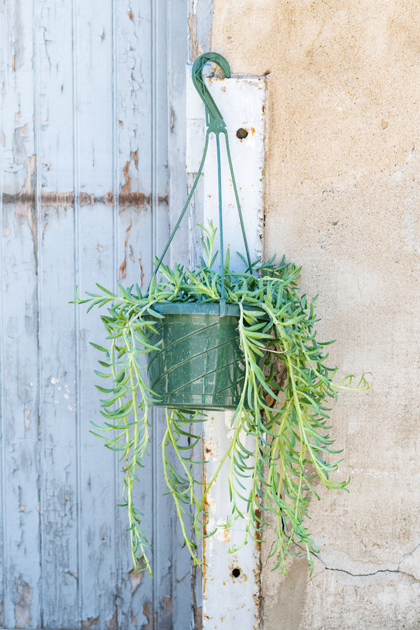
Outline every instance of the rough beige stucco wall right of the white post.
<path id="1" fill-rule="evenodd" d="M 339 478 L 288 574 L 263 548 L 263 630 L 420 628 L 420 8 L 414 0 L 214 0 L 211 50 L 267 73 L 265 255 L 303 266 L 343 393 Z"/>

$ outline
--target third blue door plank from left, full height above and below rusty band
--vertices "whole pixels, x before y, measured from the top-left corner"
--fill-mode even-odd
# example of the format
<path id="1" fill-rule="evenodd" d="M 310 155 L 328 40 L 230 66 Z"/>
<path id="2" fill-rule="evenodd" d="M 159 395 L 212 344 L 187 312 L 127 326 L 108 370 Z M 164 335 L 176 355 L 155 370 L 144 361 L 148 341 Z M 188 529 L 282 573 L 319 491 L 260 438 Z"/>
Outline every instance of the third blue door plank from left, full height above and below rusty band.
<path id="1" fill-rule="evenodd" d="M 113 200 L 113 143 L 115 125 L 113 99 L 114 5 L 77 1 L 74 11 L 74 81 L 76 136 L 75 224 L 76 276 L 80 290 L 92 290 L 94 282 L 113 286 L 116 269 L 115 207 Z M 105 197 L 103 202 L 84 205 L 85 193 Z M 108 195 L 108 197 L 106 197 Z M 98 353 L 90 341 L 104 339 L 99 314 L 76 315 L 78 373 L 78 462 L 80 492 L 79 583 L 80 619 L 94 629 L 117 627 L 120 583 L 120 548 L 117 519 L 120 493 L 116 489 L 116 456 L 104 450 L 90 433 L 90 421 L 103 424 L 99 393 L 93 377 Z M 125 624 L 121 624 L 125 628 Z"/>

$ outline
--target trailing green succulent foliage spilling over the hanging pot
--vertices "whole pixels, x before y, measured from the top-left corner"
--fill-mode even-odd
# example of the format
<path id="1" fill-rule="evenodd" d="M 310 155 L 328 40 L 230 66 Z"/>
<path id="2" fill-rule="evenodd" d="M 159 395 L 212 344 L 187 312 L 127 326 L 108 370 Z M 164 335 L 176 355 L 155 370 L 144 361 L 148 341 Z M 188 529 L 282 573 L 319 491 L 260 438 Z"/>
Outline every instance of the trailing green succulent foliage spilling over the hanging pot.
<path id="1" fill-rule="evenodd" d="M 105 420 L 104 426 L 94 427 L 94 433 L 105 440 L 106 447 L 120 454 L 134 567 L 149 573 L 149 545 L 132 491 L 151 440 L 151 407 L 159 404 L 159 397 L 148 386 L 142 356 L 159 349 L 159 342 L 151 343 L 162 318 L 153 310 L 155 304 L 221 300 L 221 271 L 216 267 L 214 251 L 216 230 L 211 223 L 203 229 L 204 258 L 196 269 L 184 265 L 170 269 L 162 264 L 160 275 L 153 277 L 144 295 L 139 286 L 120 286 L 120 295 L 116 295 L 97 285 L 99 293 L 76 298 L 79 304 L 88 304 L 88 310 L 106 307 L 101 318 L 108 344 L 103 347 L 92 343 L 103 354 L 99 360 L 102 370 L 96 374 L 109 381 L 109 386 L 97 386 L 103 395 Z M 368 385 L 364 377 L 356 386 L 352 376 L 333 382 L 337 367 L 325 363 L 325 346 L 332 342 L 316 338 L 316 298 L 308 302 L 300 294 L 299 268 L 284 260 L 276 264 L 274 259 L 254 262 L 252 272 L 246 260 L 244 267 L 243 273 L 231 271 L 228 253 L 225 295 L 228 304 L 237 304 L 240 309 L 237 328 L 245 372 L 229 447 L 204 487 L 200 474 L 203 462 L 194 461 L 193 451 L 200 442 L 206 416 L 200 414 L 200 409 L 166 409 L 163 470 L 184 543 L 195 564 L 201 564 L 195 540 L 204 532 L 206 536 L 214 533 L 204 527 L 206 498 L 225 465 L 232 507 L 225 526 L 231 526 L 237 518 L 245 519 L 242 545 L 249 538 L 260 540 L 268 525 L 265 515 L 272 512 L 275 544 L 271 555 L 276 558 L 276 568 L 284 573 L 286 554 L 294 554 L 295 545 L 306 551 L 310 566 L 311 552 L 317 551 L 305 525 L 311 496 L 319 498 L 313 480 L 318 477 L 329 489 L 344 488 L 348 483 L 330 479 L 339 463 L 329 461 L 330 456 L 340 452 L 332 449 L 334 440 L 329 435 L 330 403 L 339 389 L 363 390 Z M 246 436 L 252 439 L 246 440 Z"/>

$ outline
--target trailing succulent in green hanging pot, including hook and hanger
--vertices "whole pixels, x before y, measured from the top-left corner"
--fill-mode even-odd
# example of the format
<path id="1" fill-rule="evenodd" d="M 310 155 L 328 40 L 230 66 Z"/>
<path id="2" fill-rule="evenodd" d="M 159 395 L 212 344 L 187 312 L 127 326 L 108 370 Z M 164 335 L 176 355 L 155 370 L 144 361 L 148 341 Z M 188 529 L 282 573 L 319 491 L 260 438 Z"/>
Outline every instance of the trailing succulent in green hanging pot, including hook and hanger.
<path id="1" fill-rule="evenodd" d="M 98 285 L 98 292 L 76 301 L 88 304 L 88 310 L 106 307 L 101 318 L 108 344 L 92 344 L 103 354 L 97 374 L 105 379 L 104 386 L 98 386 L 105 424 L 97 427 L 100 433 L 96 434 L 121 455 L 134 567 L 151 573 L 148 542 L 132 488 L 150 440 L 150 409 L 160 405 L 166 407 L 167 421 L 162 440 L 165 481 L 193 561 L 201 564 L 192 532 L 198 538 L 203 531 L 206 535 L 214 533 L 203 529 L 206 498 L 228 462 L 226 482 L 232 518 L 227 525 L 237 518 L 246 519 L 243 544 L 248 538 L 259 540 L 267 526 L 265 514 L 272 512 L 276 521 L 272 555 L 276 554 L 276 566 L 284 573 L 286 554 L 295 551 L 294 544 L 306 549 L 312 565 L 311 552 L 316 551 L 316 545 L 304 524 L 309 498 L 319 498 L 312 479 L 317 476 L 330 489 L 344 488 L 348 483 L 330 479 L 337 462 L 328 460 L 339 452 L 332 450 L 333 440 L 328 434 L 330 402 L 339 389 L 362 390 L 367 383 L 362 377 L 353 387 L 351 375 L 335 383 L 337 367 L 325 363 L 325 346 L 331 342 L 316 338 L 315 300 L 308 302 L 297 287 L 300 269 L 284 260 L 279 264 L 274 260 L 251 261 L 225 123 L 202 78 L 208 61 L 230 76 L 228 62 L 216 53 L 202 55 L 193 66 L 193 80 L 206 106 L 204 155 L 146 293 L 139 286 L 120 286 L 116 295 Z M 202 228 L 199 265 L 195 269 L 185 265 L 169 268 L 162 261 L 193 196 L 211 132 L 216 134 L 218 151 L 221 251 L 214 251 L 216 229 L 209 223 Z M 244 235 L 242 272 L 230 269 L 229 252 L 223 252 L 221 134 L 225 136 Z M 200 441 L 200 425 L 207 409 L 234 411 L 232 440 L 203 489 L 200 475 L 193 473 L 191 454 Z M 204 414 L 200 414 L 202 410 Z M 253 438 L 252 449 L 246 445 L 247 435 Z M 199 470 L 202 462 L 197 464 Z M 244 479 L 248 479 L 246 494 Z"/>

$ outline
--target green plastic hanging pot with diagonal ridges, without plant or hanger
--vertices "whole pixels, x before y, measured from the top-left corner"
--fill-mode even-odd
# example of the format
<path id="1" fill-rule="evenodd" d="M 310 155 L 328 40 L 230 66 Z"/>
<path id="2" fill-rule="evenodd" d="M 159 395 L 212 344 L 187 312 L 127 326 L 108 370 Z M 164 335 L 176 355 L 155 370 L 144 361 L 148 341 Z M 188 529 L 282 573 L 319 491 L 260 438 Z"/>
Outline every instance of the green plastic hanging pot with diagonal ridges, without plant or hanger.
<path id="1" fill-rule="evenodd" d="M 244 357 L 239 347 L 239 307 L 218 304 L 155 304 L 165 315 L 148 353 L 151 388 L 156 403 L 174 409 L 235 409 L 244 387 Z"/>

